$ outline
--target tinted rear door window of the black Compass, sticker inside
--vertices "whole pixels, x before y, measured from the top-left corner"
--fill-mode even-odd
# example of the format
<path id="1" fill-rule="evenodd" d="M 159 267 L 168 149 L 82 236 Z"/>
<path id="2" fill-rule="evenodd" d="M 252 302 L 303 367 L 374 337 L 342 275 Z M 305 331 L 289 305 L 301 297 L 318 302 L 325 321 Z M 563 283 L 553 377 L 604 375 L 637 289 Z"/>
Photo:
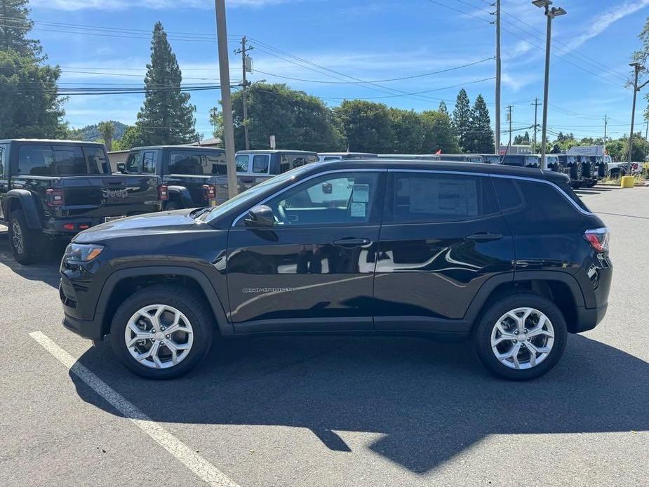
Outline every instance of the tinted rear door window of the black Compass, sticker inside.
<path id="1" fill-rule="evenodd" d="M 472 220 L 497 213 L 489 178 L 395 173 L 392 219 L 398 223 Z"/>

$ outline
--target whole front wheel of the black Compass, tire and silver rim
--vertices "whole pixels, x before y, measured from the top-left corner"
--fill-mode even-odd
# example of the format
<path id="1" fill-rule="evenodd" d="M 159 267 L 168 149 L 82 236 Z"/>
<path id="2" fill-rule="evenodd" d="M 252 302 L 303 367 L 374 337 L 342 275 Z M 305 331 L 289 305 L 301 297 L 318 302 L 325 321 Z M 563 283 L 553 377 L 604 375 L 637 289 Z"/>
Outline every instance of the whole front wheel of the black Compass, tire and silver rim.
<path id="1" fill-rule="evenodd" d="M 177 378 L 205 358 L 213 321 L 192 293 L 175 286 L 144 288 L 117 309 L 110 342 L 119 360 L 138 375 Z"/>

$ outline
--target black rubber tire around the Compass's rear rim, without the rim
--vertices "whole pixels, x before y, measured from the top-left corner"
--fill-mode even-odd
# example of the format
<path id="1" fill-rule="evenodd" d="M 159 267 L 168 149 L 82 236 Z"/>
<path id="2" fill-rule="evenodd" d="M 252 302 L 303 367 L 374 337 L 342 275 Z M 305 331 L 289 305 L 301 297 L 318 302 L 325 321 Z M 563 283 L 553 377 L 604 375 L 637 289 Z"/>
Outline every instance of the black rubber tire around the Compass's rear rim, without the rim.
<path id="1" fill-rule="evenodd" d="M 554 345 L 544 360 L 536 366 L 526 369 L 509 368 L 496 358 L 491 347 L 491 333 L 501 316 L 522 307 L 537 309 L 547 316 L 552 328 L 554 328 Z M 532 293 L 510 295 L 498 300 L 487 309 L 474 328 L 474 343 L 480 361 L 488 371 L 507 380 L 530 380 L 547 373 L 561 359 L 563 350 L 566 348 L 567 337 L 568 328 L 561 310 L 556 307 L 554 302 Z M 509 342 L 509 340 L 504 340 L 504 342 Z M 521 345 L 524 346 L 525 342 Z M 523 356 L 529 354 L 527 348 L 523 349 L 522 346 Z"/>

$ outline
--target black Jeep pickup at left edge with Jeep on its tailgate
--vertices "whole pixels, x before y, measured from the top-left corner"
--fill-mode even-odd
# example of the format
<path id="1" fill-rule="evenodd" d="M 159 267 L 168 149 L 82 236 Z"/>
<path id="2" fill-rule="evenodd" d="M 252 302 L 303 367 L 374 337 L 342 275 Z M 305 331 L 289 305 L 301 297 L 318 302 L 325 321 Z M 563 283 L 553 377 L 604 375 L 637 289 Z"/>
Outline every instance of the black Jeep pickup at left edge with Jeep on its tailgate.
<path id="1" fill-rule="evenodd" d="M 0 222 L 21 264 L 42 255 L 48 240 L 159 211 L 167 196 L 155 175 L 112 175 L 103 144 L 0 140 Z"/>

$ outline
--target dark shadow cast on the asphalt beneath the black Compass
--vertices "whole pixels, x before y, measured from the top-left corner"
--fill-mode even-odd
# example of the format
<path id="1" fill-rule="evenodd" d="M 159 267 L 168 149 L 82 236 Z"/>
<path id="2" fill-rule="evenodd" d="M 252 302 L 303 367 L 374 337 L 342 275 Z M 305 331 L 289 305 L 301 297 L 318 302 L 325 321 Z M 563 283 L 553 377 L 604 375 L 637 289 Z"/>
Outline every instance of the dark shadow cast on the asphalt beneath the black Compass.
<path id="1" fill-rule="evenodd" d="M 324 447 L 351 453 L 342 432 L 371 432 L 380 434 L 372 451 L 418 474 L 490 434 L 649 429 L 649 364 L 581 335 L 570 335 L 558 366 L 531 382 L 493 378 L 470 342 L 419 338 L 228 340 L 174 380 L 173 394 L 169 382 L 122 368 L 107 343 L 80 361 L 153 420 L 303 427 Z M 119 415 L 70 376 L 84 401 Z"/>

